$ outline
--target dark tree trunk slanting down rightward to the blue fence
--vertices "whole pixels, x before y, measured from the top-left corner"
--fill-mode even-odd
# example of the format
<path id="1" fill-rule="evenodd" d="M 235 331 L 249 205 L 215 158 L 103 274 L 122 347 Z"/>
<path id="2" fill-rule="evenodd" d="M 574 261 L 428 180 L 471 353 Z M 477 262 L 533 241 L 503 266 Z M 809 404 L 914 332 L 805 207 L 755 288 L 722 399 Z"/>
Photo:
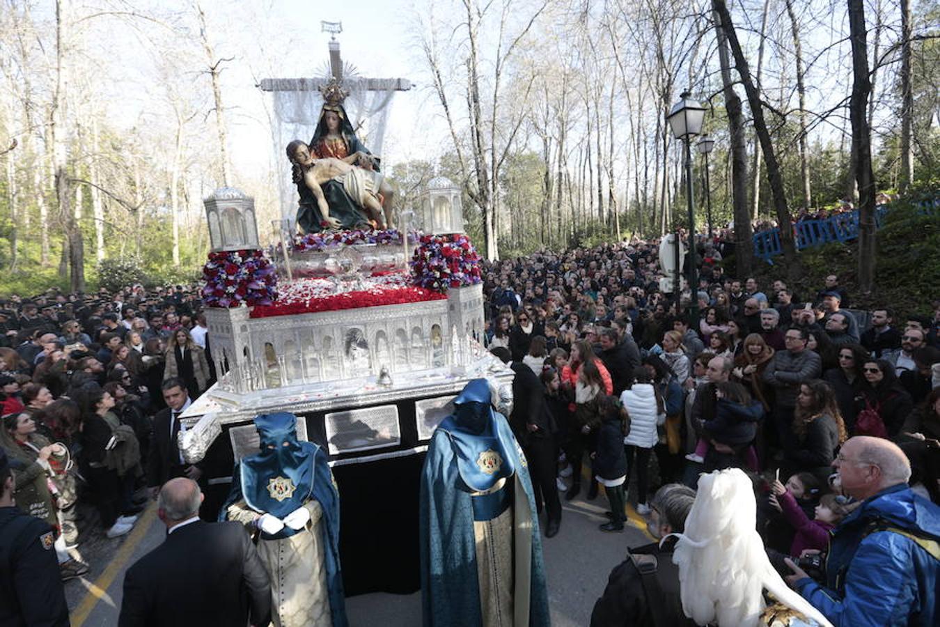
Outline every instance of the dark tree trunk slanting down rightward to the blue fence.
<path id="1" fill-rule="evenodd" d="M 793 242 L 793 225 L 790 218 L 790 210 L 787 208 L 787 195 L 783 187 L 783 179 L 780 176 L 780 166 L 776 160 L 776 151 L 774 145 L 771 143 L 767 123 L 764 121 L 763 105 L 760 103 L 760 93 L 758 93 L 754 82 L 751 80 L 751 71 L 747 66 L 747 59 L 744 57 L 744 51 L 741 49 L 741 43 L 738 41 L 738 35 L 734 30 L 734 23 L 731 22 L 728 5 L 725 3 L 725 0 L 712 0 L 712 7 L 718 13 L 722 28 L 728 36 L 731 54 L 734 56 L 734 63 L 738 68 L 738 73 L 741 75 L 744 91 L 747 93 L 747 102 L 751 107 L 751 115 L 754 117 L 754 130 L 758 133 L 760 148 L 763 150 L 764 164 L 767 165 L 767 178 L 770 182 L 771 195 L 774 198 L 774 210 L 776 212 L 777 225 L 780 228 L 780 243 L 783 247 L 783 258 L 787 264 L 790 279 L 795 281 L 802 272 L 802 264 L 796 257 L 796 245 Z"/>

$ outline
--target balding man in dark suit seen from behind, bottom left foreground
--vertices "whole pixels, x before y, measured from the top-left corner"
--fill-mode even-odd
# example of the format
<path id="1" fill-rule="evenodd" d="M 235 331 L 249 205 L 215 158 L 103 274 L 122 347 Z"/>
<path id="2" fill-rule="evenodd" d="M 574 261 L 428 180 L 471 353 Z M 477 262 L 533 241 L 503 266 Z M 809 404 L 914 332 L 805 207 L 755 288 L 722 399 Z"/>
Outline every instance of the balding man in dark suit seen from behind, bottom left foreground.
<path id="1" fill-rule="evenodd" d="M 196 482 L 174 478 L 158 498 L 163 544 L 124 575 L 119 627 L 267 625 L 271 584 L 238 523 L 203 523 Z"/>

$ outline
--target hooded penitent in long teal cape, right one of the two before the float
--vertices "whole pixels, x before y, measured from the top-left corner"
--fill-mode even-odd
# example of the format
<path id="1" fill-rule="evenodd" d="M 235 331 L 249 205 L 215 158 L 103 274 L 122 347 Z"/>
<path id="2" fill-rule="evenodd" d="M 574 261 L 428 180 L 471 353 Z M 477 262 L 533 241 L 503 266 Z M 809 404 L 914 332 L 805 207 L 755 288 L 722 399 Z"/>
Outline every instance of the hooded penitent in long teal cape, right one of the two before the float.
<path id="1" fill-rule="evenodd" d="M 550 624 L 525 455 L 490 400 L 486 380 L 467 384 L 428 447 L 420 509 L 426 627 Z"/>

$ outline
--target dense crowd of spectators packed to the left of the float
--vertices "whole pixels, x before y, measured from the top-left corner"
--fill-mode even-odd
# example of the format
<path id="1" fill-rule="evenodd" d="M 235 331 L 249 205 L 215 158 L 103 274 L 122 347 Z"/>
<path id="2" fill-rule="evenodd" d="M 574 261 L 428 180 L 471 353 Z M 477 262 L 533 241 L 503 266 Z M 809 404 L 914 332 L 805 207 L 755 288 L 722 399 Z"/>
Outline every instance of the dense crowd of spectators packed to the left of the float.
<path id="1" fill-rule="evenodd" d="M 195 290 L 0 301 L 0 447 L 17 506 L 55 528 L 63 579 L 87 570 L 73 557 L 86 538 L 80 525 L 108 538 L 133 528 L 159 474 L 153 416 L 168 384 L 190 400 L 212 384 L 208 353 Z"/>

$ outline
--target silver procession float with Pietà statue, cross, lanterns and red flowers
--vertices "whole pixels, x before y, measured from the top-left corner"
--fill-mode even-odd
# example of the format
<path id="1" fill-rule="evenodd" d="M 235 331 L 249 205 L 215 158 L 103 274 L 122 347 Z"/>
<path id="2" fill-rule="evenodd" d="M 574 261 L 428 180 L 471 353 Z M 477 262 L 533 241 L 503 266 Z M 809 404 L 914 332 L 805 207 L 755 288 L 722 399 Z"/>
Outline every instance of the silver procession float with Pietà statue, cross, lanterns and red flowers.
<path id="1" fill-rule="evenodd" d="M 478 254 L 462 232 L 459 188 L 435 178 L 419 207 L 392 211 L 381 160 L 344 106 L 377 80 L 344 80 L 335 41 L 331 55 L 327 79 L 261 85 L 275 102 L 300 99 L 275 106 L 281 121 L 285 109 L 309 118 L 275 129 L 290 185 L 272 243 L 259 241 L 252 197 L 224 187 L 205 199 L 203 301 L 217 383 L 182 415 L 180 451 L 209 469 L 204 492 L 219 509 L 233 463 L 258 453 L 253 419 L 296 415 L 298 438 L 328 454 L 340 495 L 346 594 L 413 592 L 419 475 L 433 431 L 475 379 L 490 383 L 508 415 L 512 370 L 482 348 Z M 353 115 L 374 117 L 359 108 Z M 308 143 L 297 139 L 308 133 Z"/>

